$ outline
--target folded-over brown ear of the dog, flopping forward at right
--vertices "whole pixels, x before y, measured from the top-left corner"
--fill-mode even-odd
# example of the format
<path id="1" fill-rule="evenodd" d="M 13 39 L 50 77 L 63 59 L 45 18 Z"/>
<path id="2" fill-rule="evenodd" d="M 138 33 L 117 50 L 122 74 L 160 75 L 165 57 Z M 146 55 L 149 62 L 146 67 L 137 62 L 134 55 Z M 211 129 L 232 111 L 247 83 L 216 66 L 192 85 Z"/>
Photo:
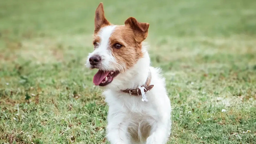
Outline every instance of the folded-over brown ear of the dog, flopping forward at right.
<path id="1" fill-rule="evenodd" d="M 135 38 L 139 43 L 147 38 L 149 23 L 138 22 L 135 18 L 130 17 L 124 22 L 124 24 L 133 30 Z"/>

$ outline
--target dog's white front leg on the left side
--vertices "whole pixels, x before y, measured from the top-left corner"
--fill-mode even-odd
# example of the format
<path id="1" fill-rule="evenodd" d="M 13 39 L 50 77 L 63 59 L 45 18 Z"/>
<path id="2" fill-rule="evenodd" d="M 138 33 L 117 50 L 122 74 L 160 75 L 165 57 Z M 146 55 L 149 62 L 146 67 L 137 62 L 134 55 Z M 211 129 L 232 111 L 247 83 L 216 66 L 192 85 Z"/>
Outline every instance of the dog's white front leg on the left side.
<path id="1" fill-rule="evenodd" d="M 111 144 L 129 144 L 127 137 L 127 122 L 123 116 L 110 118 L 107 126 L 107 139 Z"/>

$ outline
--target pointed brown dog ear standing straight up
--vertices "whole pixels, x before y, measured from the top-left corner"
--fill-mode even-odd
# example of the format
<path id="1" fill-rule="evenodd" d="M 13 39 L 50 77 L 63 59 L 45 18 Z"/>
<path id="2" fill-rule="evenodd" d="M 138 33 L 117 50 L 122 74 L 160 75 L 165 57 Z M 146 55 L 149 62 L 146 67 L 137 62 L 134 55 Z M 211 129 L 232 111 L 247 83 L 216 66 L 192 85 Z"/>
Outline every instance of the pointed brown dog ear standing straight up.
<path id="1" fill-rule="evenodd" d="M 108 26 L 108 25 L 110 25 L 110 22 L 108 22 L 108 20 L 105 18 L 103 3 L 101 2 L 95 11 L 94 33 L 97 33 L 101 27 Z"/>

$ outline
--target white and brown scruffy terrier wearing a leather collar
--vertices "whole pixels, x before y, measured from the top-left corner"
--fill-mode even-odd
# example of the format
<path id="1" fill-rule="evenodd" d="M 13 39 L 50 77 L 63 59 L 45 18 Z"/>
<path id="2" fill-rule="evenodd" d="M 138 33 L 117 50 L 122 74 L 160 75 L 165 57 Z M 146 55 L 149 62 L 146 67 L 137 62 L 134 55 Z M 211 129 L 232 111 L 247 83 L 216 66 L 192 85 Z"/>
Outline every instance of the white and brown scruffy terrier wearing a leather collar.
<path id="1" fill-rule="evenodd" d="M 160 70 L 150 66 L 149 23 L 130 17 L 111 24 L 103 4 L 95 11 L 93 45 L 86 66 L 99 69 L 93 83 L 109 105 L 106 137 L 111 144 L 164 144 L 171 131 L 171 104 Z"/>

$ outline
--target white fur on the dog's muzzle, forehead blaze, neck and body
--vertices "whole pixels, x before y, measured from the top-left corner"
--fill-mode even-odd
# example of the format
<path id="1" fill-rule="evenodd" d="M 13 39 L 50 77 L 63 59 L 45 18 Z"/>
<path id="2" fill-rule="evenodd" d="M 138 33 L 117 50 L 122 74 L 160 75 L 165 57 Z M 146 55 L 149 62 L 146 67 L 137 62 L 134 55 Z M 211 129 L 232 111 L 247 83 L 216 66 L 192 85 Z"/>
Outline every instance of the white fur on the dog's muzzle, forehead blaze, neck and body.
<path id="1" fill-rule="evenodd" d="M 89 57 L 93 54 L 105 57 L 102 60 L 104 69 L 115 69 L 116 66 L 106 64 L 116 63 L 112 54 L 109 54 L 106 42 L 113 30 L 114 26 L 102 28 L 99 34 L 101 43 L 89 54 Z M 120 73 L 110 84 L 103 87 L 103 94 L 109 105 L 107 139 L 111 144 L 164 144 L 168 140 L 171 131 L 171 104 L 165 90 L 165 79 L 160 76 L 159 69 L 150 67 L 145 45 L 142 46 L 142 52 L 143 58 L 133 67 Z M 90 67 L 90 64 L 87 66 Z M 141 95 L 130 96 L 120 91 L 144 85 L 149 70 L 152 75 L 150 84 L 154 84 L 154 87 L 146 93 L 148 102 L 141 101 Z"/>

